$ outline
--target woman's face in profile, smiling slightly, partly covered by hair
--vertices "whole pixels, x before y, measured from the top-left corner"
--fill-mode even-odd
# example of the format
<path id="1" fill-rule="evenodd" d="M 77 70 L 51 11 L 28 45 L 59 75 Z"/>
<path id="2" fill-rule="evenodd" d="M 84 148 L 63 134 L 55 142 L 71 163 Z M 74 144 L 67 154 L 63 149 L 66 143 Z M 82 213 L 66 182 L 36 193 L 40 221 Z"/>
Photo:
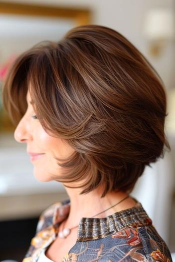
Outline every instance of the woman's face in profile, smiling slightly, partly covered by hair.
<path id="1" fill-rule="evenodd" d="M 26 143 L 27 153 L 40 154 L 30 157 L 34 167 L 34 177 L 39 181 L 51 181 L 52 175 L 59 177 L 61 167 L 57 158 L 71 155 L 74 150 L 63 139 L 48 135 L 42 128 L 30 104 L 29 91 L 26 95 L 27 110 L 14 131 L 14 139 Z"/>

